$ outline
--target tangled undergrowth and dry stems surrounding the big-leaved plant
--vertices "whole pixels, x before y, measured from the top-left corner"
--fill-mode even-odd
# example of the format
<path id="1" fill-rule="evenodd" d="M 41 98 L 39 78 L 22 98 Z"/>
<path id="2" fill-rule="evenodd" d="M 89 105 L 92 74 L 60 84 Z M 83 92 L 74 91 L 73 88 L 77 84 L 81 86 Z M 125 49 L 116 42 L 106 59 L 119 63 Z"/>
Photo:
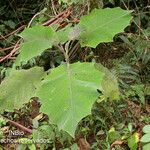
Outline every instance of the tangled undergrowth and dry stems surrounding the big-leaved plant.
<path id="1" fill-rule="evenodd" d="M 73 3 L 74 2 L 74 3 Z M 121 92 L 120 101 L 102 100 L 95 103 L 92 114 L 82 119 L 73 139 L 64 131 L 58 131 L 48 122 L 47 115 L 39 116 L 41 103 L 32 98 L 23 108 L 3 112 L 0 118 L 0 139 L 16 130 L 9 121 L 13 120 L 28 128 L 36 128 L 32 135 L 25 134 L 18 139 L 49 138 L 48 144 L 1 144 L 1 149 L 150 149 L 150 1 L 149 0 L 5 0 L 0 2 L 0 82 L 9 75 L 18 53 L 11 53 L 25 26 L 42 24 L 71 7 L 71 14 L 59 24 L 76 24 L 81 16 L 94 8 L 121 7 L 133 10 L 131 25 L 124 33 L 117 34 L 113 42 L 101 43 L 96 48 L 82 48 L 75 41 L 70 54 L 71 63 L 98 62 L 107 67 L 116 77 Z M 58 19 L 56 18 L 56 19 Z M 10 55 L 11 54 L 11 55 Z M 44 70 L 59 66 L 63 55 L 52 47 L 41 56 L 34 57 L 21 68 L 41 66 Z M 32 76 L 31 76 L 32 78 Z M 107 79 L 107 84 L 109 78 Z M 84 109 L 84 108 L 83 108 Z M 34 119 L 35 117 L 37 117 Z M 6 120 L 9 119 L 8 120 Z M 147 125 L 147 126 L 146 126 Z M 145 127 L 145 128 L 143 128 Z M 38 134 L 37 134 L 38 133 Z M 73 145 L 73 147 L 71 147 Z"/>

